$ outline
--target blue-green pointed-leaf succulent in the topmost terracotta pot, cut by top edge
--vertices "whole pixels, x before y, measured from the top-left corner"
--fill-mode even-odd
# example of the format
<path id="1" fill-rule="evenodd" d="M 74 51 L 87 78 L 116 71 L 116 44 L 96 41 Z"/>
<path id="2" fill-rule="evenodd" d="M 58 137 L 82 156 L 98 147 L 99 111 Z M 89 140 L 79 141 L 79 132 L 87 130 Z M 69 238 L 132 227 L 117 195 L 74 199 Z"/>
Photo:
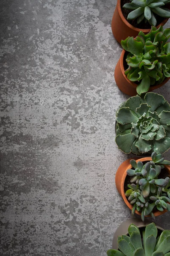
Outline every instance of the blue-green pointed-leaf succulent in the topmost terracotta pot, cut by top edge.
<path id="1" fill-rule="evenodd" d="M 170 10 L 162 8 L 169 0 L 130 0 L 131 3 L 125 3 L 123 8 L 132 10 L 127 16 L 127 20 L 134 20 L 137 18 L 137 23 L 142 20 L 149 22 L 150 25 L 156 26 L 156 17 L 154 14 L 164 18 L 170 17 Z"/>

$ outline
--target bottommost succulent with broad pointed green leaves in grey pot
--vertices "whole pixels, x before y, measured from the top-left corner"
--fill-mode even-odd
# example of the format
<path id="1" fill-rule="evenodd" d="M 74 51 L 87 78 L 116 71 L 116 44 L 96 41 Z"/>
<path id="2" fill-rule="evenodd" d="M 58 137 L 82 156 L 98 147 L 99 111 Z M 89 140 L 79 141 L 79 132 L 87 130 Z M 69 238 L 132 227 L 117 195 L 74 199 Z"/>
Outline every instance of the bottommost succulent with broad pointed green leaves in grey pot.
<path id="1" fill-rule="evenodd" d="M 108 250 L 108 256 L 169 256 L 170 255 L 170 230 L 162 231 L 158 236 L 154 223 L 148 224 L 140 232 L 139 228 L 130 224 L 128 236 L 118 236 L 119 250 Z"/>

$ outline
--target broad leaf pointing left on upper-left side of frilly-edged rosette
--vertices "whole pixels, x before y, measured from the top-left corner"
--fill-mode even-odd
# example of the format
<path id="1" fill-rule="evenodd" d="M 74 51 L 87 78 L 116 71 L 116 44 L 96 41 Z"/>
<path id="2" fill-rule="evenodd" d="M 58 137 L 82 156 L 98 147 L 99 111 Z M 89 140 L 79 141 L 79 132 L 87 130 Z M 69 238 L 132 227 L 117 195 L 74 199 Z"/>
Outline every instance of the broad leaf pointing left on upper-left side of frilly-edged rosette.
<path id="1" fill-rule="evenodd" d="M 136 123 L 138 118 L 130 111 L 130 108 L 120 108 L 117 113 L 116 120 L 121 125 L 129 124 L 131 122 Z"/>

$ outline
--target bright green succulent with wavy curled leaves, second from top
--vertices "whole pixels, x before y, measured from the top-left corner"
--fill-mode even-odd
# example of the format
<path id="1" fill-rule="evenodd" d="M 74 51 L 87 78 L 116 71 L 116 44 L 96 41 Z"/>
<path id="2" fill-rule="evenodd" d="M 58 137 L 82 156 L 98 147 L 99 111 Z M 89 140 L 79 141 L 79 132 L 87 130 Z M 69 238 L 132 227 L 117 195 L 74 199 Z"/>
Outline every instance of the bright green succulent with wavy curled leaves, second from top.
<path id="1" fill-rule="evenodd" d="M 137 1 L 137 0 L 135 0 Z M 128 65 L 125 75 L 130 81 L 136 82 L 139 95 L 146 93 L 151 85 L 160 84 L 170 77 L 170 29 L 152 26 L 144 35 L 142 31 L 134 39 L 127 37 L 121 41 L 123 49 L 128 53 Z"/>

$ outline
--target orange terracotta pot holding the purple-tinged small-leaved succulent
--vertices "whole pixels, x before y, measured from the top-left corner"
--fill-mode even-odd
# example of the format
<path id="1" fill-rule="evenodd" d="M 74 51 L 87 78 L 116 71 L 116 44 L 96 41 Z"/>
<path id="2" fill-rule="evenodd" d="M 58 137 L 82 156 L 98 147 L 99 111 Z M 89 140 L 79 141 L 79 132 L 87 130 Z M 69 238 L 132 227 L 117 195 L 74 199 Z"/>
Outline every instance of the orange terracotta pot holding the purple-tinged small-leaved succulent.
<path id="1" fill-rule="evenodd" d="M 133 158 L 133 159 L 135 159 L 135 158 Z M 141 162 L 147 161 L 148 162 L 150 160 L 152 160 L 151 157 L 144 157 L 144 158 L 139 158 L 138 160 L 136 160 L 136 162 L 139 162 L 139 161 L 141 161 Z M 127 200 L 127 198 L 125 196 L 125 191 L 124 191 L 124 183 L 125 183 L 125 178 L 127 176 L 127 170 L 132 168 L 129 161 L 130 161 L 130 159 L 125 160 L 125 162 L 123 162 L 119 166 L 119 168 L 117 169 L 117 172 L 116 172 L 115 182 L 116 182 L 116 188 L 117 188 L 119 194 L 122 196 L 123 200 L 125 201 L 125 204 L 129 207 L 130 210 L 132 210 L 133 206 Z M 164 165 L 164 167 L 165 167 L 165 170 L 167 171 L 167 173 L 170 175 L 170 166 Z M 159 216 L 165 212 L 167 212 L 166 209 L 163 212 L 155 211 L 154 215 Z M 135 211 L 135 213 L 137 213 L 138 215 L 141 215 L 141 212 L 138 212 L 137 210 Z M 150 217 L 150 215 L 147 217 Z"/>

